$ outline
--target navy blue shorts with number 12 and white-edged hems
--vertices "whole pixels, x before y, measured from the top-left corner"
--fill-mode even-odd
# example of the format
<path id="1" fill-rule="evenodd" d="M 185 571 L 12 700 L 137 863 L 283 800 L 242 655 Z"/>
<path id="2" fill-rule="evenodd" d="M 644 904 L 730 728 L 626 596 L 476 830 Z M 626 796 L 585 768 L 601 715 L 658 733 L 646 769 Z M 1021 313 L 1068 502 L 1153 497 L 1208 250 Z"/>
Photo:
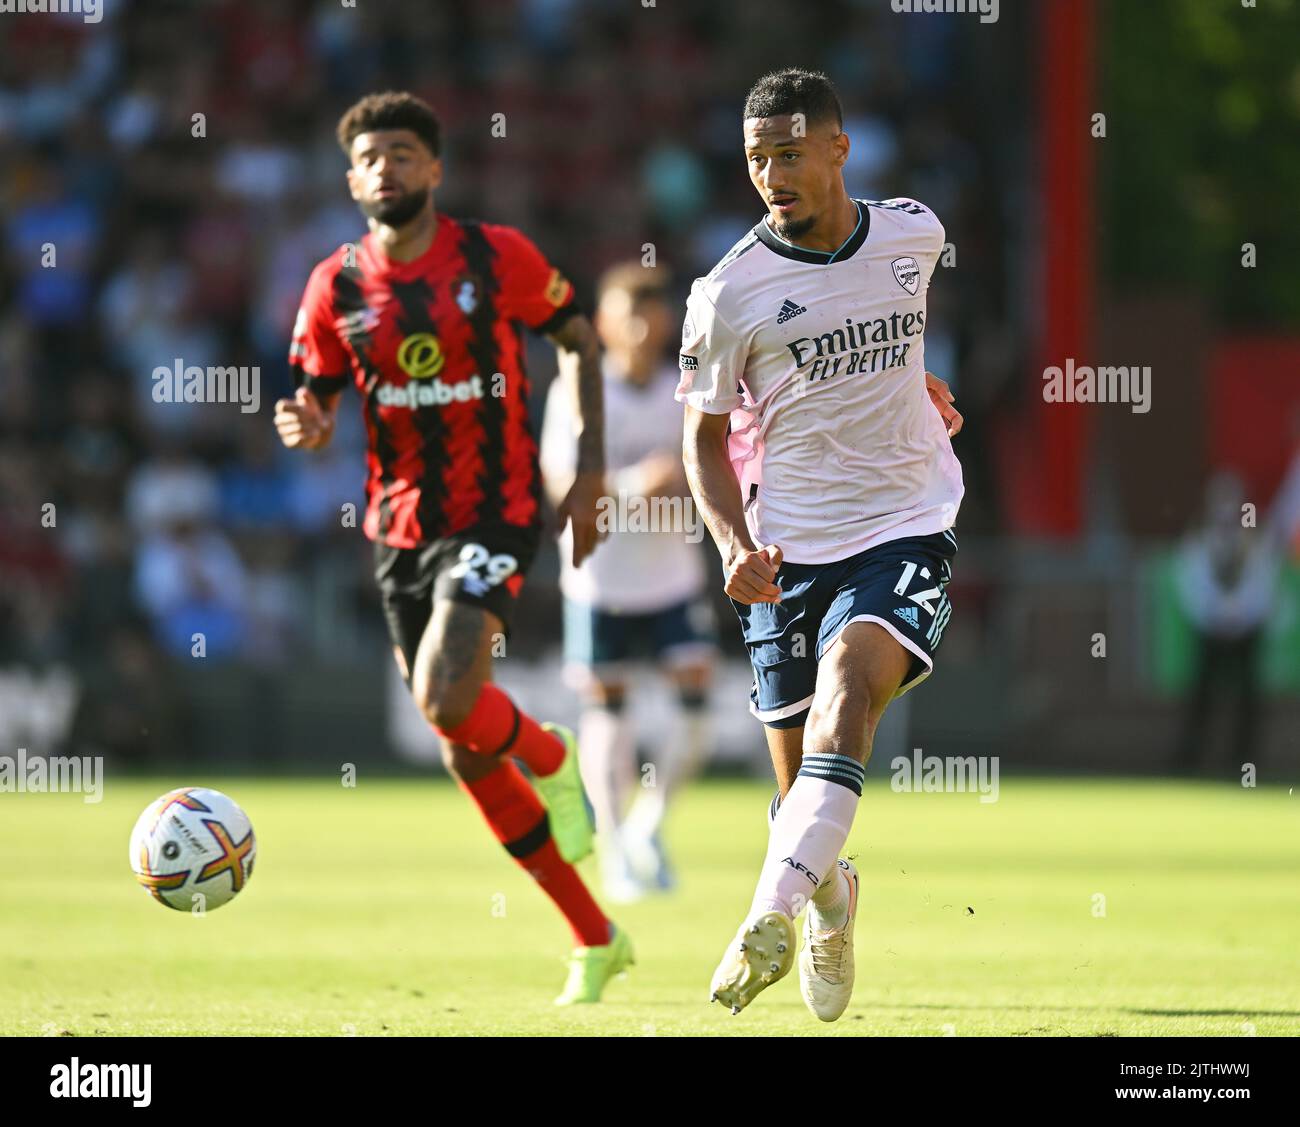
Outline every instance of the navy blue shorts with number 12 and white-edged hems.
<path id="1" fill-rule="evenodd" d="M 779 603 L 732 599 L 754 667 L 749 711 L 772 728 L 803 724 L 816 663 L 849 623 L 878 623 L 911 654 L 896 697 L 924 681 L 953 612 L 946 589 L 956 554 L 952 529 L 894 539 L 835 563 L 783 563 Z"/>

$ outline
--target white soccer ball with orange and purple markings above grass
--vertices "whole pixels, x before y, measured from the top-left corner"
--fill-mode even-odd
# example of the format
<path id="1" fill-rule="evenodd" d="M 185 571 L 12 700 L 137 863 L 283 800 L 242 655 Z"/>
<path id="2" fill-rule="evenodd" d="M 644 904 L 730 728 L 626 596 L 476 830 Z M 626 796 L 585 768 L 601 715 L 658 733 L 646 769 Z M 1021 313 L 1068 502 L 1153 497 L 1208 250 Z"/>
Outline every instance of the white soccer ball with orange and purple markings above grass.
<path id="1" fill-rule="evenodd" d="M 248 884 L 256 855 L 248 815 L 205 786 L 169 790 L 131 831 L 135 879 L 177 911 L 203 913 L 234 900 Z"/>

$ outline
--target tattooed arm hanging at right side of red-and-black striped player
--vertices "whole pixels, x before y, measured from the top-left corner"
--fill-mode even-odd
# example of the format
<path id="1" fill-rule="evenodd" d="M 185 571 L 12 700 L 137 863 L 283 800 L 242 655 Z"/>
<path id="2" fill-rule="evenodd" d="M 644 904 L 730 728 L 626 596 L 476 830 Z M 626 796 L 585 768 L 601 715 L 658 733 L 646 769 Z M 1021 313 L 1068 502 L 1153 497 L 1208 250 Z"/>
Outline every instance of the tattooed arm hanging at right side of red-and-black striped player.
<path id="1" fill-rule="evenodd" d="M 547 334 L 559 352 L 560 378 L 576 395 L 577 465 L 573 484 L 556 508 L 560 526 L 573 530 L 573 567 L 581 565 L 599 541 L 597 513 L 604 497 L 604 377 L 601 346 L 592 322 L 576 315 Z"/>

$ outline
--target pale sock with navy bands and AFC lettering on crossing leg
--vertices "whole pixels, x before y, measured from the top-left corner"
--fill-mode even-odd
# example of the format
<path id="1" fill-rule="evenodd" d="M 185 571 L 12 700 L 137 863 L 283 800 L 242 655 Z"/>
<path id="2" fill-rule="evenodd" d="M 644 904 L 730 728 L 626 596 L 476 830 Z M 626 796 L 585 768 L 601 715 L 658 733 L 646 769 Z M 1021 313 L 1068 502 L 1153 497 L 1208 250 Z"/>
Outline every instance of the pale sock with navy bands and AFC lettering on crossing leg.
<path id="1" fill-rule="evenodd" d="M 750 913 L 803 910 L 849 840 L 864 771 L 848 755 L 805 755 L 772 822 Z"/>

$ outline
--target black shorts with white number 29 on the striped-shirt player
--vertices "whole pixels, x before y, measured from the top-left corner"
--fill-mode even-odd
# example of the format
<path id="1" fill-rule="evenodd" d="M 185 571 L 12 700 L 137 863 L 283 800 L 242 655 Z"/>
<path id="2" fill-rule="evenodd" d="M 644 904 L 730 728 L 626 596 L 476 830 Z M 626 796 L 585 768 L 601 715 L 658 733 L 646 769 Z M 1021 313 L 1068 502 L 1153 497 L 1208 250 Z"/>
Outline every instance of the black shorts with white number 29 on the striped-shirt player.
<path id="1" fill-rule="evenodd" d="M 515 599 L 541 536 L 540 525 L 520 528 L 495 521 L 476 524 L 420 547 L 374 542 L 374 581 L 380 585 L 384 617 L 408 671 L 415 668 L 415 654 L 436 599 L 491 611 L 510 636 Z"/>

